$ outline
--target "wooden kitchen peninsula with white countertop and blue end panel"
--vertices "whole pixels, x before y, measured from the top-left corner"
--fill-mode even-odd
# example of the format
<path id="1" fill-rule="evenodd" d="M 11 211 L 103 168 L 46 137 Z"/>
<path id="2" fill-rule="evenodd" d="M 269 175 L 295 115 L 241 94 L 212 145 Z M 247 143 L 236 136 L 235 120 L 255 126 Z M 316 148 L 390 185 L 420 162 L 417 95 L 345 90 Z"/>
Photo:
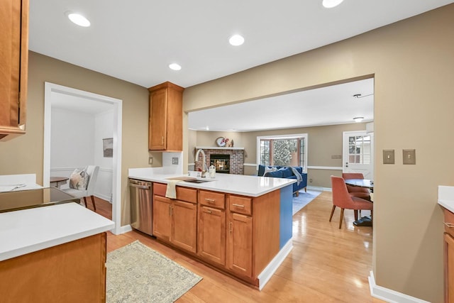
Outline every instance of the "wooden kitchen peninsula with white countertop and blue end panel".
<path id="1" fill-rule="evenodd" d="M 292 250 L 297 180 L 228 174 L 189 179 L 159 168 L 130 169 L 129 177 L 153 182 L 153 236 L 248 285 L 261 290 Z M 175 197 L 166 197 L 169 183 Z"/>

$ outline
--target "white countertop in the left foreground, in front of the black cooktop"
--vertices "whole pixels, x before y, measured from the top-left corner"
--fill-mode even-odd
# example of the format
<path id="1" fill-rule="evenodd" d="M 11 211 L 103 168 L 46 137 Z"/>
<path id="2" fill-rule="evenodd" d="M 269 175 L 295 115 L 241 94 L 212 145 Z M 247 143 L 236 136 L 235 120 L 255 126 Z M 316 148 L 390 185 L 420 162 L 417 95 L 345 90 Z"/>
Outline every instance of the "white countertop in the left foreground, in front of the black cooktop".
<path id="1" fill-rule="evenodd" d="M 114 228 L 114 222 L 77 203 L 0 214 L 0 261 Z"/>

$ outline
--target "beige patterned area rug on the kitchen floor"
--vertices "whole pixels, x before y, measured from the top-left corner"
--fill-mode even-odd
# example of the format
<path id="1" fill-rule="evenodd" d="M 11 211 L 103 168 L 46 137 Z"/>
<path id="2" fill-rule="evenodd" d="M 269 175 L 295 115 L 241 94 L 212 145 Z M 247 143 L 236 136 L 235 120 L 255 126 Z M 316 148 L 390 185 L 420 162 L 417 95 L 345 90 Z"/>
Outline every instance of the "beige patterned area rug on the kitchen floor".
<path id="1" fill-rule="evenodd" d="M 107 254 L 106 302 L 175 302 L 202 278 L 140 241 Z"/>

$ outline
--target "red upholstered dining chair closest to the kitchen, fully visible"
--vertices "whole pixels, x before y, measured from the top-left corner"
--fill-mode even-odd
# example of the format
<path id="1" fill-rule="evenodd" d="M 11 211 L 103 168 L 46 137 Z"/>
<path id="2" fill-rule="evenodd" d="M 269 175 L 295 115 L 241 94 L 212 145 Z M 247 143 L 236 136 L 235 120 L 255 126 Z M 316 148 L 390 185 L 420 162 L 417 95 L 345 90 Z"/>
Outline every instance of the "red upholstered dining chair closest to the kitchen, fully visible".
<path id="1" fill-rule="evenodd" d="M 353 209 L 355 211 L 355 221 L 358 220 L 358 210 L 365 209 L 370 210 L 371 216 L 373 215 L 374 204 L 365 199 L 353 197 L 348 193 L 345 181 L 341 177 L 331 176 L 331 187 L 333 190 L 333 209 L 331 210 L 331 216 L 329 221 L 333 218 L 334 210 L 336 206 L 341 208 L 341 219 L 339 219 L 339 228 L 342 226 L 343 210 Z"/>

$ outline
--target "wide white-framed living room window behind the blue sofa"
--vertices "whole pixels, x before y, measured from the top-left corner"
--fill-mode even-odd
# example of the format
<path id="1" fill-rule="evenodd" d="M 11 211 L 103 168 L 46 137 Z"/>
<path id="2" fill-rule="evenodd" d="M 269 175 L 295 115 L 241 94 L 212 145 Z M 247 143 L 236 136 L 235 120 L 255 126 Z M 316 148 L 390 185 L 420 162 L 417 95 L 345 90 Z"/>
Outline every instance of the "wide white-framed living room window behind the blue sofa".
<path id="1" fill-rule="evenodd" d="M 258 137 L 258 163 L 301 166 L 306 171 L 307 134 Z"/>

